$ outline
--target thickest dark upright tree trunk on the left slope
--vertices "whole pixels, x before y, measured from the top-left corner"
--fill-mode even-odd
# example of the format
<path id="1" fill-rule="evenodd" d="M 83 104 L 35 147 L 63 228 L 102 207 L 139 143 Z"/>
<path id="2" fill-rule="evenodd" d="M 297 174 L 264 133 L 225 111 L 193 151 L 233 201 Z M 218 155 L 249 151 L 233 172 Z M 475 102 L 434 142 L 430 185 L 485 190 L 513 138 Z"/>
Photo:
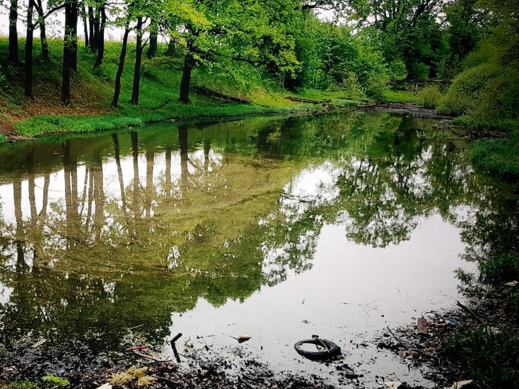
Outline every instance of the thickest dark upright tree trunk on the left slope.
<path id="1" fill-rule="evenodd" d="M 74 35 L 74 15 L 77 23 L 77 3 L 69 1 L 65 5 L 65 36 L 63 39 L 63 80 L 61 84 L 61 101 L 70 105 L 70 77 L 74 64 L 74 50 L 77 48 Z"/>

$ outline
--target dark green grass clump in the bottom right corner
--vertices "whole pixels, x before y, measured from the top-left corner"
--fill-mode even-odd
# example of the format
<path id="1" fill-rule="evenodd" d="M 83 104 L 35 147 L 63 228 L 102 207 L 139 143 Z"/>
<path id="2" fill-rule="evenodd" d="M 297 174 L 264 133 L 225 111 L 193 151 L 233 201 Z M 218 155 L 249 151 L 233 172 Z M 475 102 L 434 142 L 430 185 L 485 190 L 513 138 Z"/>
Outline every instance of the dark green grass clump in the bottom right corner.
<path id="1" fill-rule="evenodd" d="M 519 387 L 519 336 L 513 332 L 495 334 L 486 326 L 456 331 L 445 344 L 445 355 L 482 389 Z"/>

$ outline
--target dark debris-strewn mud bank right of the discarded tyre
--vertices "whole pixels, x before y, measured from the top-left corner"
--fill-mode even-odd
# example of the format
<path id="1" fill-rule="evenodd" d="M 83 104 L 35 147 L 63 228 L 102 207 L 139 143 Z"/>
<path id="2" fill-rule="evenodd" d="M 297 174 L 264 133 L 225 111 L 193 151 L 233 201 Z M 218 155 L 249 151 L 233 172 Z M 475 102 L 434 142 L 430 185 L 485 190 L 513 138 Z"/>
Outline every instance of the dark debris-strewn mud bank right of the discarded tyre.
<path id="1" fill-rule="evenodd" d="M 498 342 L 499 339 L 507 342 L 507 336 L 519 332 L 519 323 L 506 303 L 511 293 L 514 293 L 512 287 L 503 288 L 491 291 L 484 298 L 471 296 L 467 301 L 457 301 L 451 310 L 421 312 L 407 325 L 387 328 L 377 346 L 393 351 L 408 361 L 409 368 L 422 370 L 424 377 L 436 383 L 474 380 L 473 386 L 463 387 L 512 387 L 510 381 L 493 382 L 485 374 L 478 376 L 476 366 L 481 362 L 481 357 L 487 359 L 489 369 L 497 363 L 490 349 L 495 348 L 499 352 L 499 344 L 492 344 L 490 340 L 488 344 L 480 345 L 476 343 L 481 338 L 470 338 L 482 331 L 481 334 L 488 334 Z M 463 350 L 456 350 L 458 344 L 463 345 L 459 339 L 465 342 Z M 503 350 L 503 354 L 506 351 Z M 469 374 L 467 370 L 473 370 L 473 373 Z M 511 374 L 516 374 L 517 366 L 515 372 L 513 366 L 511 370 Z"/>

